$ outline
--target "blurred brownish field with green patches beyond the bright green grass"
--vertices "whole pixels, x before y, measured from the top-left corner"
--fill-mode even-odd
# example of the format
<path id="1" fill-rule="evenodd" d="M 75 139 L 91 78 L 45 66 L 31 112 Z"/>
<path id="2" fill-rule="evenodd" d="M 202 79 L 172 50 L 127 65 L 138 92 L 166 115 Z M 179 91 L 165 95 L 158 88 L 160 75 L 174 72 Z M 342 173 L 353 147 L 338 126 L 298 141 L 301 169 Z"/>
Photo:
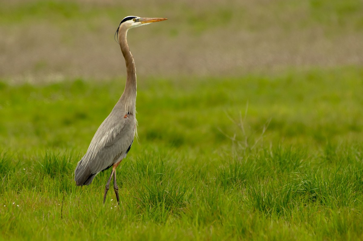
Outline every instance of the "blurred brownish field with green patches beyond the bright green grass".
<path id="1" fill-rule="evenodd" d="M 123 17 L 166 17 L 128 35 L 138 76 L 240 76 L 363 63 L 361 0 L 0 1 L 0 79 L 124 76 Z"/>

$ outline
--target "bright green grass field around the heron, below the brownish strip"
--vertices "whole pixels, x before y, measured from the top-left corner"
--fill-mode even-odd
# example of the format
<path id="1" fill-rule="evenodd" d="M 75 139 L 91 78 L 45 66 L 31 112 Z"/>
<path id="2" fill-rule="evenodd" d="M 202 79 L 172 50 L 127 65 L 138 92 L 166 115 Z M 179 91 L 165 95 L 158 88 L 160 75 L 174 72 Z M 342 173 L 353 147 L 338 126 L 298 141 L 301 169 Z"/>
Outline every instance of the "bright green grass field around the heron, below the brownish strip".
<path id="1" fill-rule="evenodd" d="M 74 168 L 124 80 L 0 84 L 3 240 L 360 240 L 362 68 L 139 78 L 139 140 Z"/>

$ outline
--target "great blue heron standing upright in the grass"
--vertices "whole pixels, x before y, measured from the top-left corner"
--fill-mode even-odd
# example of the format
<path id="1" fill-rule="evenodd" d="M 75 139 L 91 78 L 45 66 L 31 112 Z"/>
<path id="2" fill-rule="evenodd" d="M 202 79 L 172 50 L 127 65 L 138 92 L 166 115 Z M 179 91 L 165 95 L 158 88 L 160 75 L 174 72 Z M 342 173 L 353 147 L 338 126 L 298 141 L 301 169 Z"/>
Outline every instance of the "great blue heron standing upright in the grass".
<path id="1" fill-rule="evenodd" d="M 126 62 L 125 90 L 110 115 L 99 126 L 86 154 L 78 162 L 74 171 L 76 185 L 82 186 L 91 184 L 98 173 L 112 166 L 111 175 L 107 180 L 103 195 L 103 203 L 105 203 L 112 176 L 114 177 L 116 199 L 118 203 L 120 202 L 116 183 L 116 168 L 129 152 L 136 131 L 136 70 L 134 59 L 126 41 L 127 30 L 163 20 L 167 20 L 167 18 L 128 16 L 121 21 L 115 33 Z"/>

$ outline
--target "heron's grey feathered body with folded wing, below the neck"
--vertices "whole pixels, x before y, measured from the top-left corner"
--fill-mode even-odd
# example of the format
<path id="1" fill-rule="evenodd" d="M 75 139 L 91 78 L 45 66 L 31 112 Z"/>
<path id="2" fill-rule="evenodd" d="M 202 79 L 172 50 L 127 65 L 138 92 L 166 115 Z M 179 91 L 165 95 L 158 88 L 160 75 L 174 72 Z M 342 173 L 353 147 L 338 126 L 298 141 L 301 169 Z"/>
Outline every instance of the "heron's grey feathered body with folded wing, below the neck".
<path id="1" fill-rule="evenodd" d="M 126 111 L 112 111 L 94 134 L 86 154 L 74 171 L 77 186 L 90 184 L 95 175 L 123 158 L 135 136 L 136 119 Z"/>

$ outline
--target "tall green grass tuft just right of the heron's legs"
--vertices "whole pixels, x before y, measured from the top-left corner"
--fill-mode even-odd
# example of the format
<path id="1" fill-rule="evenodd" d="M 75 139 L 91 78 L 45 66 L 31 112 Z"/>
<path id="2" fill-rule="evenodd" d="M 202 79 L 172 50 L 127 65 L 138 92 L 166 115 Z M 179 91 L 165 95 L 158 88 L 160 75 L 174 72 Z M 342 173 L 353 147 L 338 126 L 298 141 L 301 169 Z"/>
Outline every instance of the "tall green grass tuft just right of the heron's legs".
<path id="1" fill-rule="evenodd" d="M 138 159 L 131 169 L 136 174 L 134 201 L 142 217 L 163 222 L 183 212 L 192 187 L 174 165 L 161 158 L 146 158 Z"/>

